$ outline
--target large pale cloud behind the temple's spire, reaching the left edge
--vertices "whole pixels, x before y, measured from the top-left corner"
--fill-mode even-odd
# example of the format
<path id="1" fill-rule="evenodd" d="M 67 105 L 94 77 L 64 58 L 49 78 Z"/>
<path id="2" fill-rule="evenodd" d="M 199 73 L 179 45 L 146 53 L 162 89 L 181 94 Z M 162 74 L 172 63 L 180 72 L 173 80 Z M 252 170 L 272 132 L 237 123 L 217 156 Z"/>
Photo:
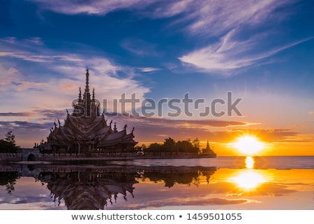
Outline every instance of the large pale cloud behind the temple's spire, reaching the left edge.
<path id="1" fill-rule="evenodd" d="M 71 107 L 71 101 L 77 97 L 78 87 L 84 89 L 86 66 L 90 68 L 90 88 L 95 87 L 96 98 L 100 101 L 103 98 L 118 98 L 122 92 L 136 93 L 137 98 L 143 98 L 149 91 L 134 79 L 136 73 L 133 68 L 114 64 L 94 50 L 73 54 L 36 43 L 26 45 L 26 40 L 10 39 L 14 41 L 9 45 L 4 44 L 6 38 L 0 40 L 0 45 L 5 50 L 2 54 L 0 52 L 0 59 L 10 61 L 11 65 L 6 67 L 7 64 L 0 64 L 0 72 L 3 74 L 0 92 L 3 107 L 11 112 L 19 110 L 19 107 L 50 108 L 52 102 L 54 109 L 65 110 Z M 40 73 L 40 77 L 29 73 L 29 67 L 25 67 L 23 61 L 32 63 L 32 72 Z M 73 91 L 75 88 L 77 90 Z M 15 98 L 14 104 L 12 98 Z"/>

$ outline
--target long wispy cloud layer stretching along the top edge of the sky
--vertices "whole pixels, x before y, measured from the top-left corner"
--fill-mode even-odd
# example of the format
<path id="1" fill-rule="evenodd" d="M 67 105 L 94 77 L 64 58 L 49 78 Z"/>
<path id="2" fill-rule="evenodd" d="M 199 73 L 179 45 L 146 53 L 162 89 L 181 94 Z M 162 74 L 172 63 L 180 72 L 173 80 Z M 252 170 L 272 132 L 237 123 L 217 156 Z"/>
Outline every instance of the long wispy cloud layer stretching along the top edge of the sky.
<path id="1" fill-rule="evenodd" d="M 290 1 L 228 1 L 228 0 L 99 0 L 99 1 L 50 1 L 29 0 L 39 8 L 66 15 L 106 15 L 117 10 L 131 10 L 145 17 L 176 17 L 173 24 L 185 24 L 188 33 L 217 35 L 246 25 L 256 26 L 266 20 L 281 17 L 278 8 L 292 4 Z"/>

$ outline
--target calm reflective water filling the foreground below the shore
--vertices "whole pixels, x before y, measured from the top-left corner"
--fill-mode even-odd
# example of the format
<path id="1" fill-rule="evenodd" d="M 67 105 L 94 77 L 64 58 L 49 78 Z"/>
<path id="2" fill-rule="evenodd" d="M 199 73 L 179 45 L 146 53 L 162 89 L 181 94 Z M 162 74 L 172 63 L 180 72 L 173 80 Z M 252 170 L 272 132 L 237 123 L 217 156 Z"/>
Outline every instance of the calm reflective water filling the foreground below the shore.
<path id="1" fill-rule="evenodd" d="M 314 209 L 314 156 L 0 165 L 0 209 Z"/>

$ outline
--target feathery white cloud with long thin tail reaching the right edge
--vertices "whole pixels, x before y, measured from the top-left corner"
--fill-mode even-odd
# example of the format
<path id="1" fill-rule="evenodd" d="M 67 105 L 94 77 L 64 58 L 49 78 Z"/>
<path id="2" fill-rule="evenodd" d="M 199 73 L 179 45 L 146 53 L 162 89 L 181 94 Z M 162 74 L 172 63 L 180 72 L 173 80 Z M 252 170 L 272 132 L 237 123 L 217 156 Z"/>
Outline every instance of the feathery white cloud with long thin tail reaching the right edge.
<path id="1" fill-rule="evenodd" d="M 220 73 L 228 72 L 230 70 L 237 70 L 258 64 L 262 59 L 266 59 L 278 52 L 312 39 L 306 38 L 283 47 L 277 47 L 268 51 L 260 50 L 260 52 L 258 52 L 257 45 L 260 45 L 259 36 L 253 36 L 248 40 L 237 40 L 234 38 L 235 33 L 236 31 L 232 30 L 220 38 L 218 43 L 190 52 L 179 57 L 179 60 L 186 64 L 193 65 L 200 70 L 216 71 Z"/>

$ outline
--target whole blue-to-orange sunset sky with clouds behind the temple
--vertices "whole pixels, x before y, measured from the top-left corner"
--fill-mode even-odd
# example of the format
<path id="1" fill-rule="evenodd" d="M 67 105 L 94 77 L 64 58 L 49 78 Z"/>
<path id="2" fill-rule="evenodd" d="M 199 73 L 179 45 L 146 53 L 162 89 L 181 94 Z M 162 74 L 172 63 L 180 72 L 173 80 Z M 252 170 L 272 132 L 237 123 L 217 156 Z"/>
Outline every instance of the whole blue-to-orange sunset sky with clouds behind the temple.
<path id="1" fill-rule="evenodd" d="M 45 140 L 89 68 L 108 123 L 134 127 L 139 145 L 198 138 L 235 156 L 232 142 L 253 135 L 264 142 L 259 155 L 313 156 L 313 9 L 297 0 L 2 0 L 0 138 L 13 130 L 21 147 Z M 136 99 L 130 116 L 123 96 Z"/>

